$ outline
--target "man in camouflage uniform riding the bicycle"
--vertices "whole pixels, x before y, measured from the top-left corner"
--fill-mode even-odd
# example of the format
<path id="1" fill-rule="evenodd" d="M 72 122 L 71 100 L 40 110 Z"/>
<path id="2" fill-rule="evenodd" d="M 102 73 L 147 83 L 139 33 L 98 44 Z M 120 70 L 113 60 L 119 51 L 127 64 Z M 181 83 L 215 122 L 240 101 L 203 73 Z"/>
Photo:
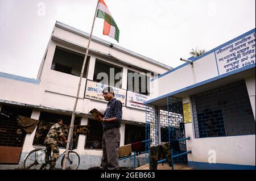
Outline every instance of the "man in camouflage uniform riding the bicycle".
<path id="1" fill-rule="evenodd" d="M 61 131 L 62 124 L 63 120 L 58 119 L 57 123 L 49 129 L 49 132 L 46 136 L 46 140 L 44 141 L 44 144 L 46 144 L 48 154 L 51 154 L 51 151 L 53 153 L 51 159 L 51 166 L 49 167 L 49 169 L 51 170 L 55 169 L 56 160 L 59 157 L 60 151 L 57 144 L 59 142 L 59 138 L 61 138 L 65 143 L 67 143 L 67 140 Z"/>

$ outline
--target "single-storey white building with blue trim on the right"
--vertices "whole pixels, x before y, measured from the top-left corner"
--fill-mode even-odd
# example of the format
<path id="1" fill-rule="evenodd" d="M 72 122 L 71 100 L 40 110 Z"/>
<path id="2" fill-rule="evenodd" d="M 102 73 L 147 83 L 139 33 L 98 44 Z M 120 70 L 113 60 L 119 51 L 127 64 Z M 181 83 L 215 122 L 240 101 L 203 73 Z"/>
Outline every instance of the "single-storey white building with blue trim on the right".
<path id="1" fill-rule="evenodd" d="M 188 166 L 255 169 L 255 29 L 189 58 L 151 84 L 157 91 L 145 104 L 153 145 L 163 142 L 164 128 L 177 129 L 176 113 L 190 137 Z"/>

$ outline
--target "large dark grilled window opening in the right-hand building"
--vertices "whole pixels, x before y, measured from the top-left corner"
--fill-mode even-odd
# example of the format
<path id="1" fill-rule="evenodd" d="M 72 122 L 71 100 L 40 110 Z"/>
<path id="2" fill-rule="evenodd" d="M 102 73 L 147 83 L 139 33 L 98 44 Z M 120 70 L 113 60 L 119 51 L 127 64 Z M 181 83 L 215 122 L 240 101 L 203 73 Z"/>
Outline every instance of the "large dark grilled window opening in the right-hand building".
<path id="1" fill-rule="evenodd" d="M 245 82 L 191 96 L 196 137 L 255 134 Z"/>

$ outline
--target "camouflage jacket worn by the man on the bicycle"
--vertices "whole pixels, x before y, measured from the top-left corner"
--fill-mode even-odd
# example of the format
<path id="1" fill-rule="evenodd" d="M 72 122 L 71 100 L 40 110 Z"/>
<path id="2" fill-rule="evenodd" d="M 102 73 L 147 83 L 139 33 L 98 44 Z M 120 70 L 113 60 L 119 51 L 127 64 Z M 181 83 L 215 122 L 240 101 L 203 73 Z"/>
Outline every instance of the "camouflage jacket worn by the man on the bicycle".
<path id="1" fill-rule="evenodd" d="M 57 140 L 61 135 L 63 135 L 61 127 L 56 123 L 49 129 L 44 144 L 57 144 Z"/>

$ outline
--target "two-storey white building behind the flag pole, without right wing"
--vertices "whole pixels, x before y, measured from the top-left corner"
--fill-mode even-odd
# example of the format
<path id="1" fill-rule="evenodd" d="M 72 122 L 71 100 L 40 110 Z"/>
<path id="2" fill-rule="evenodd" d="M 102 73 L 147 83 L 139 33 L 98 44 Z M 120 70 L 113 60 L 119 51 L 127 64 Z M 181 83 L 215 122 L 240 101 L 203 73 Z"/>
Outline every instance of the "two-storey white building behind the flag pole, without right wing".
<path id="1" fill-rule="evenodd" d="M 22 168 L 27 153 L 36 147 L 44 148 L 47 130 L 43 125 L 31 134 L 17 132 L 17 115 L 42 123 L 54 123 L 57 118 L 62 118 L 64 124 L 70 124 L 88 40 L 88 33 L 56 22 L 36 79 L 0 73 L 0 169 Z M 101 95 L 104 83 L 109 82 L 115 87 L 115 96 L 123 104 L 122 146 L 145 139 L 143 102 L 149 100 L 149 91 L 143 90 L 149 87 L 150 79 L 171 69 L 141 54 L 92 37 L 76 108 L 75 125 L 89 125 L 90 130 L 87 136 L 80 134 L 73 144 L 81 159 L 79 169 L 101 165 L 101 144 L 94 148 L 93 142 L 101 143 L 102 125 L 93 120 L 89 111 L 93 108 L 105 111 L 107 102 Z M 101 77 L 97 79 L 99 73 L 108 75 L 109 79 L 102 83 Z M 129 79 L 129 73 L 146 75 L 147 81 L 143 82 L 141 78 L 138 86 L 131 86 L 135 80 Z M 60 148 L 60 154 L 64 150 L 64 147 Z M 137 165 L 142 164 L 139 162 L 138 156 Z M 133 158 L 120 161 L 121 167 L 132 165 Z"/>

